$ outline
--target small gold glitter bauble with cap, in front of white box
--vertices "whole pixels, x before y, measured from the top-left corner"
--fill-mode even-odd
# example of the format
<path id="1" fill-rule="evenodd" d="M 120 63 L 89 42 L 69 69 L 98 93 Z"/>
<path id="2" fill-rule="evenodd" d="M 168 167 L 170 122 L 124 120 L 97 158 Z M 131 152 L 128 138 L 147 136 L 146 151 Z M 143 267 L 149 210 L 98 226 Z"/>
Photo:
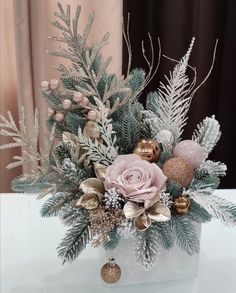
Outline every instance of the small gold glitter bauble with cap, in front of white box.
<path id="1" fill-rule="evenodd" d="M 115 263 L 113 257 L 109 258 L 108 263 L 104 264 L 101 269 L 101 278 L 104 282 L 113 284 L 119 281 L 121 276 L 121 269 L 118 264 Z"/>

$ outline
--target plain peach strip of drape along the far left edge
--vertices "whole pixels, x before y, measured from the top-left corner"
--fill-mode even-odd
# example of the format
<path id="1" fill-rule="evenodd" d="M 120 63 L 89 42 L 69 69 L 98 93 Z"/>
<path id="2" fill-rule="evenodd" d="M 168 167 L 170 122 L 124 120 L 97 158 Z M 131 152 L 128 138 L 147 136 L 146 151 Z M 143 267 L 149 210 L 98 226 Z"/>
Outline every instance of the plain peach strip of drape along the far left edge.
<path id="1" fill-rule="evenodd" d="M 16 89 L 16 57 L 15 40 L 13 34 L 13 2 L 9 0 L 0 1 L 0 113 L 5 115 L 7 110 L 11 111 L 13 117 L 18 120 L 18 103 Z M 0 136 L 0 144 L 11 140 Z M 22 168 L 6 170 L 11 163 L 12 156 L 20 155 L 19 149 L 0 151 L 0 191 L 10 191 L 10 181 L 20 175 Z"/>

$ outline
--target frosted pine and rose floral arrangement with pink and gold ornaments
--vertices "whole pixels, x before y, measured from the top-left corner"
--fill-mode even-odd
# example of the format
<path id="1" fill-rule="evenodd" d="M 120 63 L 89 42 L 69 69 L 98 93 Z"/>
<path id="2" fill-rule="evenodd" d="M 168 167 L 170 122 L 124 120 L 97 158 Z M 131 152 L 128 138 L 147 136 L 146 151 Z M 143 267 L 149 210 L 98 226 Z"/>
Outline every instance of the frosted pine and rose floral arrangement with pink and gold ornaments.
<path id="1" fill-rule="evenodd" d="M 41 84 L 48 102 L 49 136 L 38 146 L 39 113 L 35 112 L 35 135 L 30 137 L 21 111 L 20 129 L 12 116 L 1 116 L 1 135 L 13 142 L 1 149 L 22 147 L 22 156 L 14 157 L 8 168 L 34 163 L 32 172 L 15 178 L 17 192 L 47 197 L 41 214 L 59 216 L 69 226 L 58 246 L 63 261 L 74 260 L 88 243 L 112 250 L 121 237 L 133 239 L 137 262 L 144 267 L 158 261 L 160 247 L 179 246 L 188 254 L 198 253 L 196 223 L 212 217 L 224 224 L 236 224 L 236 206 L 215 195 L 226 166 L 208 155 L 221 132 L 214 116 L 197 126 L 192 138 L 181 140 L 191 100 L 206 78 L 197 85 L 196 69 L 188 65 L 194 38 L 187 53 L 160 82 L 157 91 L 148 94 L 145 107 L 138 97 L 155 76 L 160 62 L 154 55 L 143 56 L 149 71 L 130 69 L 129 35 L 124 39 L 129 51 L 125 76 L 107 73 L 111 58 L 101 55 L 109 34 L 87 45 L 94 14 L 82 34 L 77 31 L 81 8 L 72 19 L 70 6 L 59 11 L 52 24 L 62 31 L 54 41 L 65 43 L 49 53 L 71 61 L 57 69 L 61 79 Z M 215 52 L 214 52 L 215 55 Z M 170 58 L 169 58 L 170 59 Z M 213 56 L 214 63 L 214 56 Z M 192 80 L 187 75 L 192 71 Z M 103 269 L 116 269 L 113 260 Z"/>

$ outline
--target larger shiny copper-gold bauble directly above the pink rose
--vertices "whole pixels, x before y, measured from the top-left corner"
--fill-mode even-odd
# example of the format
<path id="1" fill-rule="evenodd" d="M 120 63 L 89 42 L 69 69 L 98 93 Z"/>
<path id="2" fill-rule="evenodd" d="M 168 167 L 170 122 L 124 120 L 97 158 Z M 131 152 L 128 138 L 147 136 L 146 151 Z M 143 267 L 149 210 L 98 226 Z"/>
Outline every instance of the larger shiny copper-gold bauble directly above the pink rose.
<path id="1" fill-rule="evenodd" d="M 160 145 L 152 139 L 142 139 L 134 149 L 134 153 L 150 163 L 157 162 L 161 155 Z"/>

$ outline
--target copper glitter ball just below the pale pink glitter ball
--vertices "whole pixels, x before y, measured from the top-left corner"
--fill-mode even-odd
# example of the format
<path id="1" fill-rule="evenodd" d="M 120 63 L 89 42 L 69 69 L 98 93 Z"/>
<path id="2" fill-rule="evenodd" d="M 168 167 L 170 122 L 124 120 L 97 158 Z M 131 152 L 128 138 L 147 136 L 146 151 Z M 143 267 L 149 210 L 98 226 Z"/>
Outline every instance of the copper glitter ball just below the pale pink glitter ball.
<path id="1" fill-rule="evenodd" d="M 193 167 L 181 158 L 172 158 L 165 162 L 163 173 L 169 180 L 187 187 L 193 179 Z"/>

